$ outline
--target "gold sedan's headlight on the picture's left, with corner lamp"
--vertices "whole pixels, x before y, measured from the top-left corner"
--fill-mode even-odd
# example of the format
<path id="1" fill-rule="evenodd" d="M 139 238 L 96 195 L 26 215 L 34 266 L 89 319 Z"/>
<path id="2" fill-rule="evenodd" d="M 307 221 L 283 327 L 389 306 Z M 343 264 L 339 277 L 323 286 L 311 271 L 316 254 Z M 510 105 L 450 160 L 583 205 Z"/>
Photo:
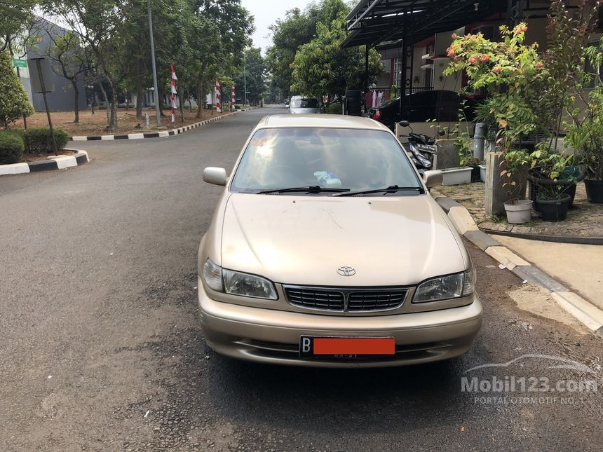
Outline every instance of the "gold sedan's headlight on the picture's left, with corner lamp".
<path id="1" fill-rule="evenodd" d="M 250 296 L 258 299 L 276 300 L 278 295 L 274 285 L 266 278 L 249 273 L 226 270 L 217 266 L 210 259 L 203 265 L 203 280 L 205 284 L 217 292 L 226 294 Z"/>

